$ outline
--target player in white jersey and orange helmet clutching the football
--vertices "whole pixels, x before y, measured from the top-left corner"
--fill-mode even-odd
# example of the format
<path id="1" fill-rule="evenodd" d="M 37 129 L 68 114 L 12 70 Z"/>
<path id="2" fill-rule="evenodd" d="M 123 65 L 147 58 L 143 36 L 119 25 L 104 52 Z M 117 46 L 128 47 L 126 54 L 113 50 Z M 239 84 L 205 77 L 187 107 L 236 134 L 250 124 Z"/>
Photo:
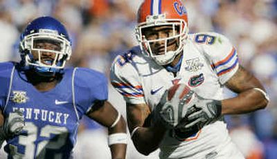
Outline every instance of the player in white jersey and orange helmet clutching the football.
<path id="1" fill-rule="evenodd" d="M 126 101 L 136 149 L 148 155 L 160 148 L 160 158 L 244 158 L 231 142 L 223 115 L 264 109 L 269 99 L 259 80 L 240 66 L 229 39 L 215 32 L 188 34 L 180 0 L 145 0 L 137 16 L 140 46 L 116 57 L 110 76 Z M 169 129 L 154 120 L 155 110 L 178 83 L 197 100 L 178 127 Z M 223 99 L 223 86 L 238 95 Z"/>

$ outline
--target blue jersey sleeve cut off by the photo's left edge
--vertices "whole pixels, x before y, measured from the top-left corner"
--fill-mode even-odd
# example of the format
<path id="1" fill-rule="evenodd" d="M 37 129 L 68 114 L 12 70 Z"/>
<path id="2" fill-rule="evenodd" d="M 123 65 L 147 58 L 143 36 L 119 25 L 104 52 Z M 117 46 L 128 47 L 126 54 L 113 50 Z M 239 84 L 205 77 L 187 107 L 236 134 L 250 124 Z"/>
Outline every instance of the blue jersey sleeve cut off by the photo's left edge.
<path id="1" fill-rule="evenodd" d="M 0 63 L 0 109 L 3 111 L 10 87 L 10 75 L 14 64 L 12 62 Z"/>

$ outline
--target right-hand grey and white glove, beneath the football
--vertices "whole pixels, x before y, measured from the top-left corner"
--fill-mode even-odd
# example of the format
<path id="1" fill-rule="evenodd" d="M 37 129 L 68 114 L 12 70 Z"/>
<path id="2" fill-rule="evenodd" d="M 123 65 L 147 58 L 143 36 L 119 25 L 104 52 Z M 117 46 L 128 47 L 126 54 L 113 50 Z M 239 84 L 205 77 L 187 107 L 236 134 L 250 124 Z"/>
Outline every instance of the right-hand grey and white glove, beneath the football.
<path id="1" fill-rule="evenodd" d="M 175 127 L 173 136 L 184 140 L 190 135 L 197 133 L 205 125 L 215 122 L 220 118 L 222 103 L 219 100 L 208 100 L 195 95 L 193 106 L 188 108 L 186 117 Z"/>

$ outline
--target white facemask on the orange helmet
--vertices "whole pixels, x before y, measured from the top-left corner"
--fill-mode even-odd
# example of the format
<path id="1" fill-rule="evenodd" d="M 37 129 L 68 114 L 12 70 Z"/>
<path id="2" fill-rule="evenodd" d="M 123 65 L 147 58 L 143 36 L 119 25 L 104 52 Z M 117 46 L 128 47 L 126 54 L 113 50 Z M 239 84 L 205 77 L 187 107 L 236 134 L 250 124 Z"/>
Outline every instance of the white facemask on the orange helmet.
<path id="1" fill-rule="evenodd" d="M 146 22 L 139 24 L 136 27 L 136 38 L 139 41 L 143 54 L 152 57 L 155 62 L 159 65 L 170 64 L 175 57 L 181 53 L 184 47 L 185 39 L 188 34 L 188 27 L 186 21 L 183 19 L 166 19 L 165 15 L 153 15 L 148 16 Z M 168 26 L 172 28 L 172 35 L 169 37 L 163 37 L 161 39 L 146 39 L 144 30 L 152 27 Z M 164 53 L 154 53 L 155 51 L 151 48 L 151 44 L 161 42 L 164 44 Z M 168 46 L 177 45 L 175 50 L 168 50 Z"/>

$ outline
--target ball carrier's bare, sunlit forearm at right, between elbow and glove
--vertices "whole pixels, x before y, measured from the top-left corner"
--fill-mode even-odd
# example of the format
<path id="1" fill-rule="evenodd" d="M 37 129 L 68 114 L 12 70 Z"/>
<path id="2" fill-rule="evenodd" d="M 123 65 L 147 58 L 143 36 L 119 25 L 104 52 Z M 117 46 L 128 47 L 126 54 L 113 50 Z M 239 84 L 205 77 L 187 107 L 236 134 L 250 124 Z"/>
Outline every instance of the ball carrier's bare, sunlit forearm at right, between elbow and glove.
<path id="1" fill-rule="evenodd" d="M 239 93 L 237 97 L 222 100 L 222 115 L 249 113 L 264 109 L 267 103 L 265 95 L 252 88 Z"/>

